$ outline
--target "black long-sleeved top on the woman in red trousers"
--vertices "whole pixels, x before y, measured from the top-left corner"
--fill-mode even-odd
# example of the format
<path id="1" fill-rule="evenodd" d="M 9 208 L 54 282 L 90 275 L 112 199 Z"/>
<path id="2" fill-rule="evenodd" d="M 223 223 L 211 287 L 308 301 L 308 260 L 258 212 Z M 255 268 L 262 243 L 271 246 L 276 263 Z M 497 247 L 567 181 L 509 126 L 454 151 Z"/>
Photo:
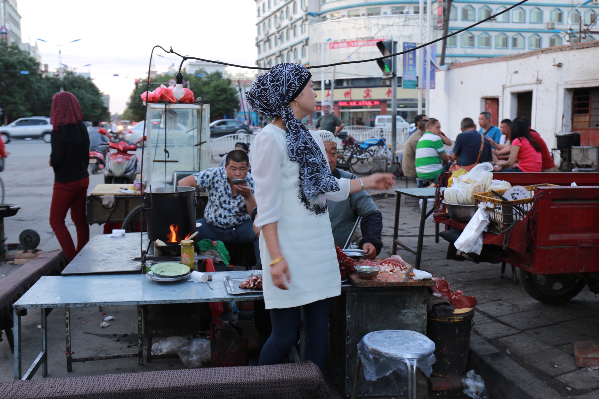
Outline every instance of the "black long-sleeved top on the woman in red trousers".
<path id="1" fill-rule="evenodd" d="M 89 135 L 83 122 L 60 125 L 52 132 L 50 162 L 54 181 L 68 183 L 89 177 Z"/>

